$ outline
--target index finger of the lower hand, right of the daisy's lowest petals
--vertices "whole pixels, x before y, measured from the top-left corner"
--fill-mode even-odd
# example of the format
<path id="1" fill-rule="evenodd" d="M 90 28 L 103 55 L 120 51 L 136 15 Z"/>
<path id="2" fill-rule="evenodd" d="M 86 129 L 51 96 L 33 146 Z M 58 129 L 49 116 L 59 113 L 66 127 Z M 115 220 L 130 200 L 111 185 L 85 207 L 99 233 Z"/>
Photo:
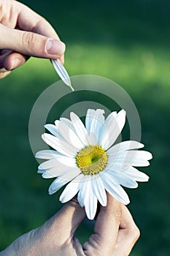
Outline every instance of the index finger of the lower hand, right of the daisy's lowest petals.
<path id="1" fill-rule="evenodd" d="M 83 244 L 85 254 L 112 255 L 121 219 L 121 204 L 107 193 L 107 206 L 101 206 L 94 234 Z"/>

